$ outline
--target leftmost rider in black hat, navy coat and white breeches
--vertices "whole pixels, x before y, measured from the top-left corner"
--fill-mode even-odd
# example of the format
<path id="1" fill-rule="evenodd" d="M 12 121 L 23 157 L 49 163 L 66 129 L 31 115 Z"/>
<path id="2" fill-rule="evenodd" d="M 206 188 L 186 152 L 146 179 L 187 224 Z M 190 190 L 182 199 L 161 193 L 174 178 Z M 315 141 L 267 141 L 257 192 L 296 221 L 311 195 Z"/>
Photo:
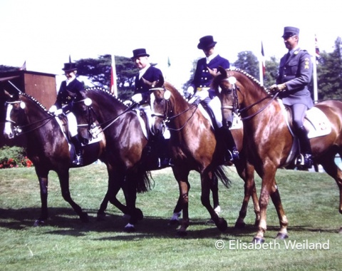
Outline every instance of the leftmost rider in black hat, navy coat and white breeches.
<path id="1" fill-rule="evenodd" d="M 78 138 L 77 121 L 71 110 L 73 108 L 73 101 L 82 99 L 81 91 L 84 91 L 84 86 L 83 83 L 76 78 L 76 63 L 64 63 L 62 70 L 66 75 L 66 81 L 61 83 L 56 103 L 51 106 L 50 111 L 55 113 L 56 116 L 61 113 L 66 114 L 71 142 L 75 146 L 76 152 L 73 159 L 73 165 L 83 165 L 82 144 L 80 138 Z"/>

